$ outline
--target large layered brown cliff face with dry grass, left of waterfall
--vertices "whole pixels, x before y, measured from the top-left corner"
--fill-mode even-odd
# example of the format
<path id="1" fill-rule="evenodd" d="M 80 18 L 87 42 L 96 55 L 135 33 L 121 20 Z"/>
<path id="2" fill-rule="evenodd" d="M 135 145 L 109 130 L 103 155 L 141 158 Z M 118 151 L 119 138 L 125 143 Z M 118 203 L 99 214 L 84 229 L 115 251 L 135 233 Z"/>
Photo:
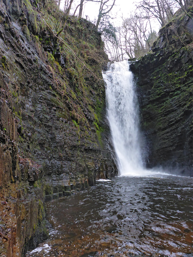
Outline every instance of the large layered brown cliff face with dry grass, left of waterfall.
<path id="1" fill-rule="evenodd" d="M 1 256 L 47 237 L 45 200 L 117 174 L 100 35 L 70 19 L 58 39 L 62 13 L 49 2 L 0 0 Z"/>

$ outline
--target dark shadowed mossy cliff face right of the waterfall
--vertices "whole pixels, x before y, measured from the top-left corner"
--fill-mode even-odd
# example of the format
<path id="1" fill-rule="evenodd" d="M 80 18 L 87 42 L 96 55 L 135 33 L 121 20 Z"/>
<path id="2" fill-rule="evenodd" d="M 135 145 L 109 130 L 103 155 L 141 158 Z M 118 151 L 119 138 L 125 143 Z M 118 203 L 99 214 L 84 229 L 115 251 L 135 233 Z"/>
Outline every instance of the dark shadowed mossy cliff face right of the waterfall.
<path id="1" fill-rule="evenodd" d="M 192 176 L 192 9 L 163 27 L 151 52 L 131 63 L 138 77 L 146 166 Z"/>

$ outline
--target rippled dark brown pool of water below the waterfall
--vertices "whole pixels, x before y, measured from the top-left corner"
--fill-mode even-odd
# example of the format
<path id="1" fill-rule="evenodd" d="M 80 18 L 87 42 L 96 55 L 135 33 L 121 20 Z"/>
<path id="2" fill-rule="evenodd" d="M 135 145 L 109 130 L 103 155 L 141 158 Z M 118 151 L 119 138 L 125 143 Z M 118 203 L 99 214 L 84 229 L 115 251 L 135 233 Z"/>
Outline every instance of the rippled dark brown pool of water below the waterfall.
<path id="1" fill-rule="evenodd" d="M 47 203 L 50 238 L 27 256 L 193 256 L 192 178 L 116 177 Z"/>

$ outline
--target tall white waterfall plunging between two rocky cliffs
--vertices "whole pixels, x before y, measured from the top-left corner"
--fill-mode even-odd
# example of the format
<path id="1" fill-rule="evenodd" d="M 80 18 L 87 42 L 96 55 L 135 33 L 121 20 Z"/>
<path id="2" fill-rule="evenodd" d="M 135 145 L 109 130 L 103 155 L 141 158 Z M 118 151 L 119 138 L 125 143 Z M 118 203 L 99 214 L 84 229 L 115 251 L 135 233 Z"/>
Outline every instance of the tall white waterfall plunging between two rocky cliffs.
<path id="1" fill-rule="evenodd" d="M 138 128 L 138 104 L 128 61 L 111 64 L 103 74 L 107 116 L 117 155 L 119 175 L 143 175 Z"/>

